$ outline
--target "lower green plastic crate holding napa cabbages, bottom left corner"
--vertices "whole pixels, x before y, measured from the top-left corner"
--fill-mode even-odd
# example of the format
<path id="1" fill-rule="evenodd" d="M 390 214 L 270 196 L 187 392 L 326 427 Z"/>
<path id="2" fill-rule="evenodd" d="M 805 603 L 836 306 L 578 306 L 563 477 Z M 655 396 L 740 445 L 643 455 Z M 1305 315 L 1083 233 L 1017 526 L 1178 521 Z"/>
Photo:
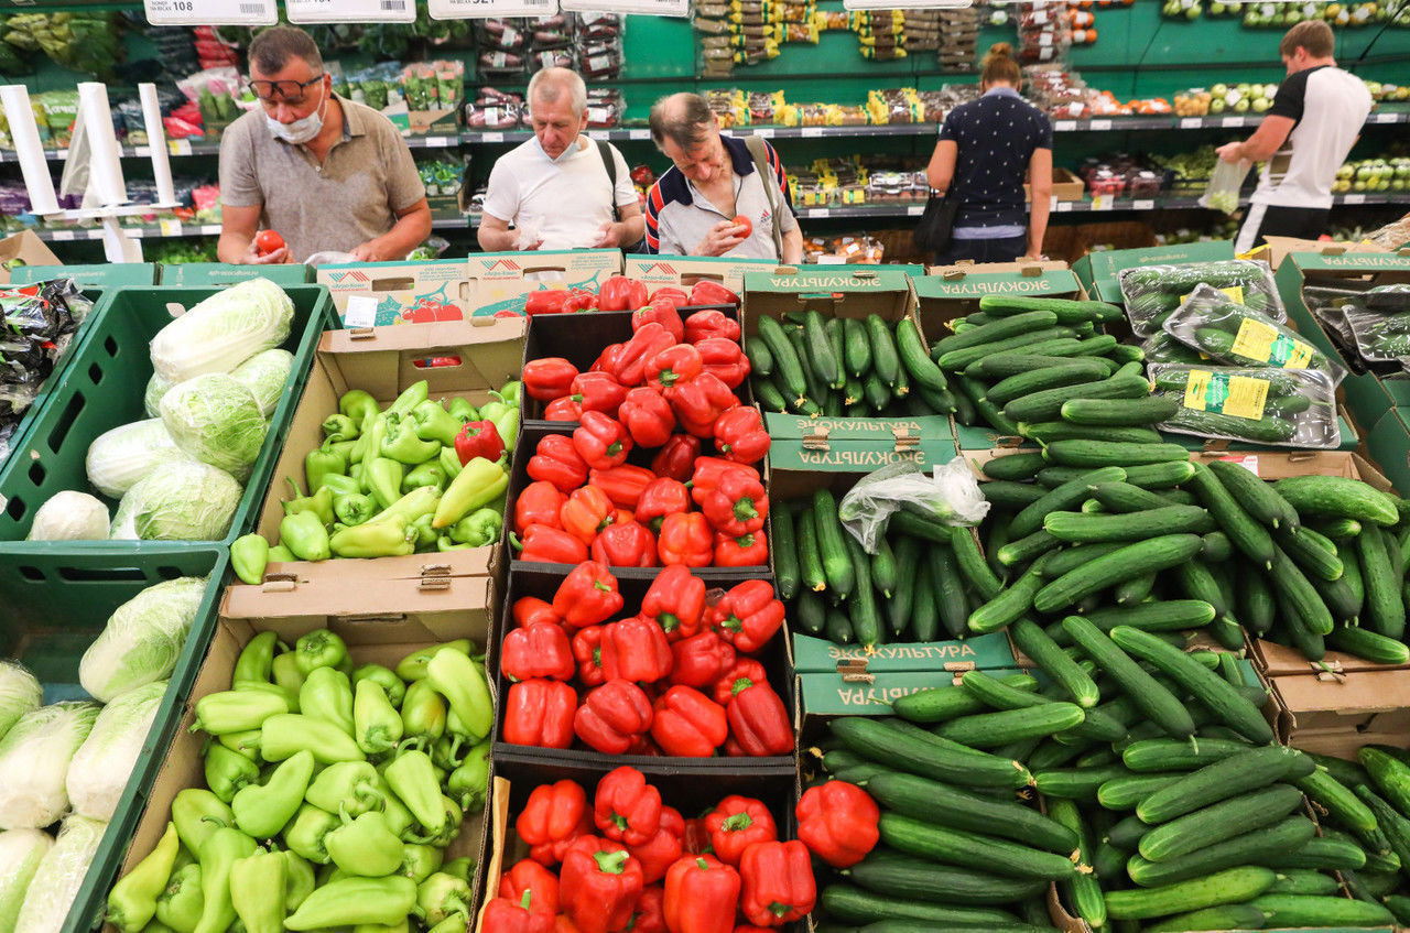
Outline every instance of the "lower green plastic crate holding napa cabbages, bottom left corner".
<path id="1" fill-rule="evenodd" d="M 59 927 L 62 933 L 85 933 L 102 922 L 107 892 L 117 879 L 128 840 L 186 712 L 186 699 L 216 630 L 220 595 L 228 582 L 226 571 L 226 550 L 213 544 L 142 554 L 116 548 L 25 554 L 0 561 L 0 619 L 4 619 L 0 657 L 17 658 L 32 669 L 44 684 L 47 703 L 89 699 L 79 686 L 79 660 L 114 609 L 154 583 L 176 576 L 210 576 L 196 624 L 172 671 L 171 686 L 93 864 Z"/>

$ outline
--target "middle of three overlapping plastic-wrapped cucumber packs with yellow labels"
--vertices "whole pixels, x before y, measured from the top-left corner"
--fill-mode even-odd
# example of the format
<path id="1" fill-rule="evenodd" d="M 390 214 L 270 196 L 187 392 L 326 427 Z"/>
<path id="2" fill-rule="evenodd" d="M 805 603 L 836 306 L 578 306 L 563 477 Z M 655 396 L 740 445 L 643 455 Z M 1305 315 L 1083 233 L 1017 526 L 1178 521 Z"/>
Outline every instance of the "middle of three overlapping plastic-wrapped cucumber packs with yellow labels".
<path id="1" fill-rule="evenodd" d="M 1208 285 L 1196 286 L 1165 320 L 1165 333 L 1228 366 L 1320 369 L 1332 385 L 1347 378 L 1340 362 L 1301 334 Z"/>

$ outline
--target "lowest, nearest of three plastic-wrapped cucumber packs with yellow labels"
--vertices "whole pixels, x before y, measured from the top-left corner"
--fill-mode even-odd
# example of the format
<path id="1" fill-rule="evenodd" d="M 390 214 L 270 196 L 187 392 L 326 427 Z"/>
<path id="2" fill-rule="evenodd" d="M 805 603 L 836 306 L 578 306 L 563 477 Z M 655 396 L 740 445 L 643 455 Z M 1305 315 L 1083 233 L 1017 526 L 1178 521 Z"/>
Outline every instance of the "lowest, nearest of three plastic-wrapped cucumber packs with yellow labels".
<path id="1" fill-rule="evenodd" d="M 1273 447 L 1341 445 L 1337 388 L 1318 369 L 1151 366 L 1155 395 L 1180 404 L 1162 431 Z"/>

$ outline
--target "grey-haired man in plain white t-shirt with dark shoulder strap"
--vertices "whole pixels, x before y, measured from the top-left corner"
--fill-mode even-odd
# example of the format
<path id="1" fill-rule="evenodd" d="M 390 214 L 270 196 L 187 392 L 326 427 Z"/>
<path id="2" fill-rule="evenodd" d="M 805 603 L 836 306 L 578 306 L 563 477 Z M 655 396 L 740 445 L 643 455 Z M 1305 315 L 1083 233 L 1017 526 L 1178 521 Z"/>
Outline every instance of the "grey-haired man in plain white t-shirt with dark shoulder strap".
<path id="1" fill-rule="evenodd" d="M 502 252 L 636 245 L 644 221 L 626 159 L 615 145 L 582 135 L 588 125 L 582 78 L 567 68 L 536 73 L 529 82 L 529 116 L 534 138 L 499 156 L 489 172 L 479 247 Z"/>

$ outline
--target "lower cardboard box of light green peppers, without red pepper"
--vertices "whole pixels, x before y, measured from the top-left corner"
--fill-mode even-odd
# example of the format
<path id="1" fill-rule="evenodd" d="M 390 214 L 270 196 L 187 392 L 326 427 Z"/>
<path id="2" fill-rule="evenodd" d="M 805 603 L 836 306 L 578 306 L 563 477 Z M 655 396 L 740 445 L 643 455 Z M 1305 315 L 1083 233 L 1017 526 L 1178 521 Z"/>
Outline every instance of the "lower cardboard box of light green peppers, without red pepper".
<path id="1" fill-rule="evenodd" d="M 345 593 L 347 589 L 347 581 L 319 581 L 289 593 L 278 610 L 262 609 L 258 616 L 243 614 L 241 596 L 237 591 L 227 591 L 210 648 L 186 700 L 176 736 L 157 772 L 120 874 L 130 871 L 157 846 L 171 819 L 176 793 L 185 788 L 206 786 L 202 746 L 207 737 L 192 731 L 195 705 L 209 693 L 230 689 L 240 651 L 257 633 L 276 631 L 281 641 L 292 645 L 300 636 L 329 627 L 347 643 L 355 664 L 375 662 L 392 668 L 412 651 L 439 641 L 471 638 L 485 644 L 489 638 L 492 606 L 488 579 L 447 589 L 429 588 L 417 579 L 364 581 L 355 593 L 355 609 L 331 609 L 352 596 Z M 460 855 L 484 861 L 484 815 L 468 813 L 460 836 L 446 850 L 447 861 Z"/>

